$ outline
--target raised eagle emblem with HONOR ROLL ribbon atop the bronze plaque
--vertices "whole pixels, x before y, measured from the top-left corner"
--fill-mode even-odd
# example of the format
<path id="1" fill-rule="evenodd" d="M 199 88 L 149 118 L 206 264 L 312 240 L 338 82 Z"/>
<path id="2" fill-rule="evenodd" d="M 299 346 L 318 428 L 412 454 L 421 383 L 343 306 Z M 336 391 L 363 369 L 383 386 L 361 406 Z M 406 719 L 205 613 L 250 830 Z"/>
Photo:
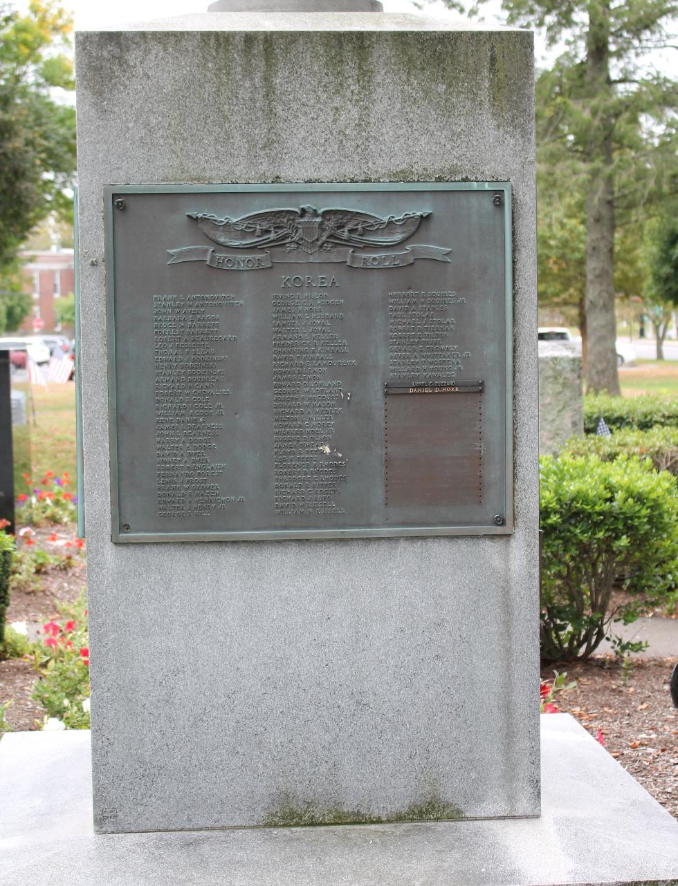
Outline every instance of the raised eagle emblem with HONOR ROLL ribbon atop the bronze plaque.
<path id="1" fill-rule="evenodd" d="M 337 261 L 351 268 L 395 268 L 417 259 L 447 261 L 452 252 L 441 246 L 412 244 L 404 252 L 382 252 L 412 237 L 430 212 L 373 215 L 355 209 L 265 209 L 240 218 L 187 213 L 213 243 L 245 253 L 219 253 L 214 246 L 169 249 L 168 264 L 205 261 L 211 268 L 256 270 L 274 262 Z M 365 252 L 364 250 L 380 250 Z"/>

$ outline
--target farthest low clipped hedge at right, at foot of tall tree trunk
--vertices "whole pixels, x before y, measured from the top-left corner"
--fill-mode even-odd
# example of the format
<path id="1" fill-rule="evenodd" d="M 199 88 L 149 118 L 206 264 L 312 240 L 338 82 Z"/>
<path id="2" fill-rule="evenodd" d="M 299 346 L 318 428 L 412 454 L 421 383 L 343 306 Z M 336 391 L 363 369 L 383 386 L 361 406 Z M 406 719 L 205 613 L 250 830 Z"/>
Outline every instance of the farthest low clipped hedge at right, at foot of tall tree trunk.
<path id="1" fill-rule="evenodd" d="M 595 434 L 598 419 L 609 428 L 639 428 L 647 431 L 656 425 L 678 427 L 678 397 L 645 393 L 640 397 L 610 397 L 587 394 L 584 398 L 584 431 Z"/>

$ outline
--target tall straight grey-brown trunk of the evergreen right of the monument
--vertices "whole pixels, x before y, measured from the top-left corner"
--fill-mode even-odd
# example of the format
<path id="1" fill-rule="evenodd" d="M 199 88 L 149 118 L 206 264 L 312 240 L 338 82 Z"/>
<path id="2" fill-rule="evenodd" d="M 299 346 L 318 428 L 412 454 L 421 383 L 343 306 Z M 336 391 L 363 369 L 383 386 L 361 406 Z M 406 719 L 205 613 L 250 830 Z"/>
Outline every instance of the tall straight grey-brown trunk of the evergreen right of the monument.
<path id="1" fill-rule="evenodd" d="M 614 313 L 610 0 L 591 0 L 587 34 L 587 390 L 619 394 Z"/>

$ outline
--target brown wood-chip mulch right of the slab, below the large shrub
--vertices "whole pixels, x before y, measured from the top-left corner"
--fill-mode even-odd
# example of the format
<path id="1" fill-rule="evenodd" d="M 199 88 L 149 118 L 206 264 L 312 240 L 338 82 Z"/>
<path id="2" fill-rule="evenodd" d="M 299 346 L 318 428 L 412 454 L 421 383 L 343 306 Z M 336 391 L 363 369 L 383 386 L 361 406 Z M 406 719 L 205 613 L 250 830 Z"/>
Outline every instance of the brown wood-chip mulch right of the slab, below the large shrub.
<path id="1" fill-rule="evenodd" d="M 600 729 L 612 757 L 678 818 L 678 711 L 668 685 L 675 661 L 638 658 L 626 673 L 608 657 L 562 666 L 577 687 L 557 693 L 554 703 L 594 737 Z M 553 671 L 542 668 L 542 680 Z"/>

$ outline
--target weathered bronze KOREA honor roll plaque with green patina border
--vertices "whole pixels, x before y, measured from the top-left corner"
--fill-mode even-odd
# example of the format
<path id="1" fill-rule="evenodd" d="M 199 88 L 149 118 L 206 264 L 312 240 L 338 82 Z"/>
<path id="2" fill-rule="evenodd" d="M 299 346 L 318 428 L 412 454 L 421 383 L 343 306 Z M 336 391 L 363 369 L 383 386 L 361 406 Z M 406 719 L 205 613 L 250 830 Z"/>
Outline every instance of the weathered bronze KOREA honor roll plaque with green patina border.
<path id="1" fill-rule="evenodd" d="M 511 532 L 507 184 L 105 199 L 115 541 Z"/>

